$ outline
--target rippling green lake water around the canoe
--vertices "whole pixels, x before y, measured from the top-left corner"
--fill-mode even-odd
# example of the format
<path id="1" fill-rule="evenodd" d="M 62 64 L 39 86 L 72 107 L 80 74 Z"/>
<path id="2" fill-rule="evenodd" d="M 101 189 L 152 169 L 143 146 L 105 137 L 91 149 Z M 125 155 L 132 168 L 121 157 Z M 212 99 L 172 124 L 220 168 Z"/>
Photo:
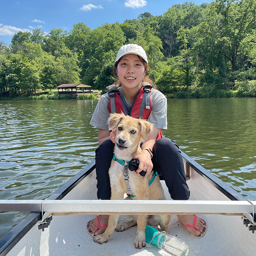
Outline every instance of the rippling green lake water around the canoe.
<path id="1" fill-rule="evenodd" d="M 43 199 L 95 156 L 97 100 L 0 101 L 0 200 Z M 166 137 L 256 200 L 256 98 L 168 99 Z M 26 213 L 0 213 L 0 238 Z"/>

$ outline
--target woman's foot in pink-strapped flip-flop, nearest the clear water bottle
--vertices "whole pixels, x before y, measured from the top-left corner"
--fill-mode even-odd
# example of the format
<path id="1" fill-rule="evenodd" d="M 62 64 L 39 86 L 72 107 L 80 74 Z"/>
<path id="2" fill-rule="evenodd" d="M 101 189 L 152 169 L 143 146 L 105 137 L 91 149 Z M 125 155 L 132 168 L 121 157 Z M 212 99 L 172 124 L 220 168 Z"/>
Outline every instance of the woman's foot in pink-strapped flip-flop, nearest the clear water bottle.
<path id="1" fill-rule="evenodd" d="M 178 220 L 183 224 L 183 225 L 189 225 L 189 226 L 194 226 L 194 219 L 195 215 L 177 215 Z M 204 226 L 205 222 L 201 218 L 196 218 L 195 221 L 195 228 L 194 227 L 186 227 L 186 230 L 189 231 L 189 233 L 192 233 L 194 236 L 200 236 L 201 233 L 204 231 Z"/>

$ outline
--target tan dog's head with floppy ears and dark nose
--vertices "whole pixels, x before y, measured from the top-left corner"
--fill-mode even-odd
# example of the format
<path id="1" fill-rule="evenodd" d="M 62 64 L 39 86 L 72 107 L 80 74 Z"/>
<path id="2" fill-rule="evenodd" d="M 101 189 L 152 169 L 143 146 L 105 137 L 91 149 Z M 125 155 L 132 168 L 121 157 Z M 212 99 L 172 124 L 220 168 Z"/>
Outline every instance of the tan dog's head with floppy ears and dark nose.
<path id="1" fill-rule="evenodd" d="M 150 122 L 124 114 L 111 114 L 108 123 L 109 130 L 116 129 L 116 146 L 121 150 L 140 145 L 153 129 Z"/>

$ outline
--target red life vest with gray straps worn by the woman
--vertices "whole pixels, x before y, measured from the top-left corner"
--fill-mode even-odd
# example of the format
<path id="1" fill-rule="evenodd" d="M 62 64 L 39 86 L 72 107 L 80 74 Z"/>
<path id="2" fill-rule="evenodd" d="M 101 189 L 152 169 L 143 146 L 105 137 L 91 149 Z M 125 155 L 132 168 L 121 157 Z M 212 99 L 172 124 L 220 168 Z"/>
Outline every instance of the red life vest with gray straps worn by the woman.
<path id="1" fill-rule="evenodd" d="M 118 87 L 115 85 L 110 85 L 107 87 L 109 95 L 108 109 L 109 113 L 124 113 L 127 116 L 132 116 L 134 118 L 148 119 L 151 113 L 151 85 L 144 85 L 139 93 L 137 94 L 134 102 L 131 106 L 131 110 L 128 111 L 124 99 L 120 95 Z M 157 134 L 157 140 L 163 138 L 161 130 Z"/>

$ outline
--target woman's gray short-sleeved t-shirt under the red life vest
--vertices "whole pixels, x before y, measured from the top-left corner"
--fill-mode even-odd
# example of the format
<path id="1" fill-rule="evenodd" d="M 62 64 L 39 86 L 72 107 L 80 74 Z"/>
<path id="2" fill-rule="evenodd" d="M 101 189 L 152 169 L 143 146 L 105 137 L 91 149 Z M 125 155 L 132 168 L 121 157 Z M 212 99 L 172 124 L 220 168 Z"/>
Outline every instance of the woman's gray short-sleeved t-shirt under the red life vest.
<path id="1" fill-rule="evenodd" d="M 120 95 L 125 101 L 125 105 L 128 111 L 130 111 L 132 104 L 125 98 L 122 87 L 118 88 Z M 148 122 L 151 122 L 154 127 L 159 129 L 167 129 L 167 99 L 160 91 L 151 89 L 151 113 L 148 116 Z M 90 121 L 90 125 L 97 128 L 108 130 L 108 118 L 109 118 L 109 96 L 105 93 L 99 99 L 99 102 L 93 112 L 93 117 Z"/>

